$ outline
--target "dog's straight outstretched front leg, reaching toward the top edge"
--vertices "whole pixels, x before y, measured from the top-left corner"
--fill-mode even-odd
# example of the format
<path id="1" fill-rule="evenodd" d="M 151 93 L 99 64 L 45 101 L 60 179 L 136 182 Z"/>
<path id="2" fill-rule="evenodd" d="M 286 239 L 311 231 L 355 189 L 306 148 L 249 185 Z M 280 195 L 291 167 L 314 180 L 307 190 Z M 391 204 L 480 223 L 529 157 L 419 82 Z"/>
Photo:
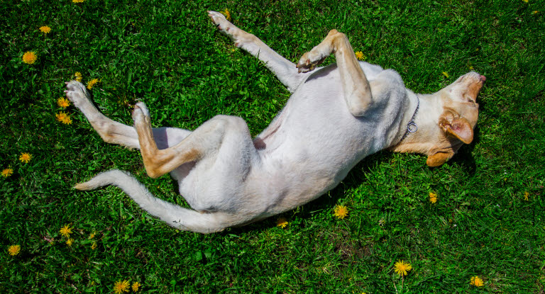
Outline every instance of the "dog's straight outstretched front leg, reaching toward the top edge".
<path id="1" fill-rule="evenodd" d="M 216 11 L 208 11 L 208 16 L 222 33 L 233 40 L 236 47 L 246 50 L 254 57 L 265 63 L 276 77 L 284 84 L 288 91 L 293 92 L 301 83 L 303 75 L 297 74 L 295 64 L 270 49 L 262 40 L 251 33 L 237 28 L 233 23 L 226 20 L 225 16 Z"/>

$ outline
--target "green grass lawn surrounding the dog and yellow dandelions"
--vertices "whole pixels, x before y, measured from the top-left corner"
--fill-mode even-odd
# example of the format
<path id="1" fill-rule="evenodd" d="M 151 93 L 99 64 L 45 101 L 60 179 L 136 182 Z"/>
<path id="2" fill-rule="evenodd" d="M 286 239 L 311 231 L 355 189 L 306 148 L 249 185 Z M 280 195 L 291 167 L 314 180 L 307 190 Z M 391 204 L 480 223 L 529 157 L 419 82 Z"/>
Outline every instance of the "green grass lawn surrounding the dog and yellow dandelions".
<path id="1" fill-rule="evenodd" d="M 14 172 L 0 177 L 0 293 L 111 293 L 120 280 L 143 293 L 544 293 L 545 3 L 258 2 L 1 1 L 0 169 Z M 272 217 L 178 232 L 118 188 L 72 189 L 123 169 L 187 205 L 169 176 L 149 179 L 137 151 L 104 143 L 73 106 L 72 125 L 55 120 L 75 72 L 101 79 L 94 101 L 123 123 L 136 99 L 155 126 L 194 129 L 223 113 L 256 135 L 270 123 L 289 93 L 207 19 L 207 9 L 226 8 L 292 61 L 336 28 L 420 93 L 473 67 L 487 77 L 475 141 L 435 169 L 417 154 L 370 156 L 333 191 L 282 215 L 285 229 Z M 24 64 L 30 50 L 38 60 Z M 348 206 L 344 220 L 333 217 L 336 204 Z M 59 232 L 68 224 L 71 247 Z M 400 259 L 413 268 L 403 279 L 393 271 Z"/>

